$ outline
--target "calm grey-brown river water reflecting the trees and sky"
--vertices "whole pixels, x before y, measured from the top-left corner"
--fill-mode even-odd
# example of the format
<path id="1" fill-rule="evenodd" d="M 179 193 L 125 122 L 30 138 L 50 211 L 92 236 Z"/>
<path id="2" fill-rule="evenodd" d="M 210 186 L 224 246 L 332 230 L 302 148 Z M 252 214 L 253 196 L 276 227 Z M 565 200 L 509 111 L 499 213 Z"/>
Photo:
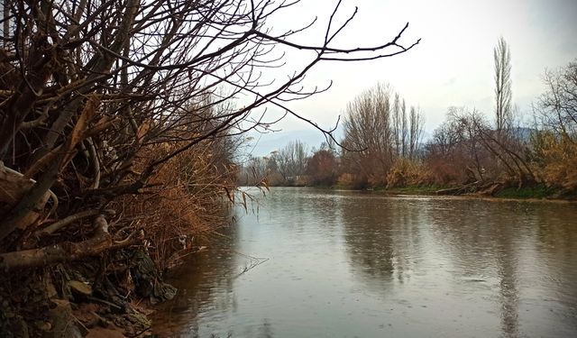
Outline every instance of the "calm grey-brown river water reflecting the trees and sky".
<path id="1" fill-rule="evenodd" d="M 272 188 L 253 208 L 178 271 L 157 333 L 577 337 L 575 204 Z"/>

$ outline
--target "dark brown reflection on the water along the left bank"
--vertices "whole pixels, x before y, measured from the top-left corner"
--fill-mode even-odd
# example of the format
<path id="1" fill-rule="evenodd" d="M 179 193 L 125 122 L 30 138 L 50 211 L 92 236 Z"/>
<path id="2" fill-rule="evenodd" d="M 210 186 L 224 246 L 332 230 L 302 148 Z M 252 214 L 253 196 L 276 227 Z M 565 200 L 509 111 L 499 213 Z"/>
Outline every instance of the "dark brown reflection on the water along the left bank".
<path id="1" fill-rule="evenodd" d="M 248 211 L 249 219 L 256 217 Z M 231 212 L 230 217 L 236 219 L 246 217 L 243 208 L 238 207 Z M 249 221 L 250 222 L 250 221 Z M 240 228 L 235 224 L 218 230 L 220 235 L 208 239 L 206 251 L 191 255 L 178 269 L 171 271 L 169 282 L 179 289 L 178 296 L 162 306 L 153 315 L 153 331 L 160 336 L 228 337 L 236 336 L 226 327 L 218 326 L 219 314 L 236 311 L 238 306 L 234 296 L 234 279 L 239 276 L 246 261 L 251 260 L 238 253 L 240 248 Z M 202 314 L 211 311 L 216 316 L 209 324 L 216 324 L 215 332 L 202 323 Z M 262 324 L 256 327 L 245 327 L 244 336 L 257 338 L 273 337 L 273 327 L 268 318 L 262 319 Z M 222 331 L 224 330 L 224 331 Z M 243 335 L 243 334 L 241 334 Z"/>

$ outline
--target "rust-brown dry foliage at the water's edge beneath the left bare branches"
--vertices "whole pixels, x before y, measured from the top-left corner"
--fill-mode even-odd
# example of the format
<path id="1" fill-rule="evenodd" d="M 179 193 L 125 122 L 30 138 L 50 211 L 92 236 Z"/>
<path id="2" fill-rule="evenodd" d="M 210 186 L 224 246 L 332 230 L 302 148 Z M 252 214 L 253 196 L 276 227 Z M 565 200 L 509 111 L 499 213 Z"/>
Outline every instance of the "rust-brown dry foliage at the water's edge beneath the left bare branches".
<path id="1" fill-rule="evenodd" d="M 170 159 L 151 178 L 142 195 L 124 196 L 117 213 L 124 226 L 141 228 L 150 239 L 151 257 L 160 268 L 173 264 L 198 239 L 227 224 L 236 166 L 219 154 L 223 142 L 204 142 Z M 173 151 L 178 145 L 160 144 L 144 151 L 142 162 Z M 130 223 L 128 223 L 130 221 Z"/>

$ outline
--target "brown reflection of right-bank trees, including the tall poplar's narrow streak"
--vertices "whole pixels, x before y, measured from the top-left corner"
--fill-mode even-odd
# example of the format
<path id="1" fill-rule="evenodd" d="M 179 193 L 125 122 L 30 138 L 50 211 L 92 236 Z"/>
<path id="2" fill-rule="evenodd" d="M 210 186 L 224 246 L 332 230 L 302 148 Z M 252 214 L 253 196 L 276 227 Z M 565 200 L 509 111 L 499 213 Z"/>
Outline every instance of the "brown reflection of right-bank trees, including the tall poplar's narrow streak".
<path id="1" fill-rule="evenodd" d="M 577 212 L 568 206 L 512 201 L 451 199 L 440 202 L 428 217 L 436 240 L 445 244 L 455 265 L 468 277 L 499 279 L 501 330 L 504 336 L 519 333 L 519 289 L 542 279 L 541 274 L 519 280 L 520 260 L 547 269 L 553 276 L 566 276 L 577 260 Z M 570 223 L 573 222 L 571 225 Z M 535 257 L 531 257 L 535 254 Z M 541 256 L 541 257 L 539 257 Z M 549 256 L 549 257 L 545 257 Z M 535 261 L 531 261 L 535 260 Z M 554 269 L 554 271 L 551 271 Z M 563 270 L 566 269 L 566 270 Z M 574 273 L 574 272 L 573 272 Z M 565 280 L 554 294 L 571 297 L 575 304 L 575 279 Z M 528 284 L 531 285 L 531 284 Z M 555 286 L 552 284 L 552 288 Z M 561 299 L 563 301 L 563 299 Z"/>

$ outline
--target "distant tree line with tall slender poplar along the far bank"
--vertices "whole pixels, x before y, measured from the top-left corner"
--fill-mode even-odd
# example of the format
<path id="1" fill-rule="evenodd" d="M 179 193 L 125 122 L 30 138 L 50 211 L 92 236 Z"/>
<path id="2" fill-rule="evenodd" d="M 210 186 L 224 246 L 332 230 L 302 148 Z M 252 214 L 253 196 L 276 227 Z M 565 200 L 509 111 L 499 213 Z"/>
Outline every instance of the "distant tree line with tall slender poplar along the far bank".
<path id="1" fill-rule="evenodd" d="M 545 71 L 545 90 L 523 116 L 513 105 L 510 50 L 502 37 L 493 55 L 492 118 L 475 108 L 451 106 L 423 142 L 423 113 L 408 107 L 389 85 L 378 84 L 346 106 L 340 147 L 323 143 L 308 153 L 307 145 L 291 142 L 268 157 L 252 158 L 241 183 L 438 187 L 449 194 L 488 195 L 539 187 L 572 196 L 577 189 L 577 61 Z M 255 169 L 252 176 L 248 169 Z"/>

